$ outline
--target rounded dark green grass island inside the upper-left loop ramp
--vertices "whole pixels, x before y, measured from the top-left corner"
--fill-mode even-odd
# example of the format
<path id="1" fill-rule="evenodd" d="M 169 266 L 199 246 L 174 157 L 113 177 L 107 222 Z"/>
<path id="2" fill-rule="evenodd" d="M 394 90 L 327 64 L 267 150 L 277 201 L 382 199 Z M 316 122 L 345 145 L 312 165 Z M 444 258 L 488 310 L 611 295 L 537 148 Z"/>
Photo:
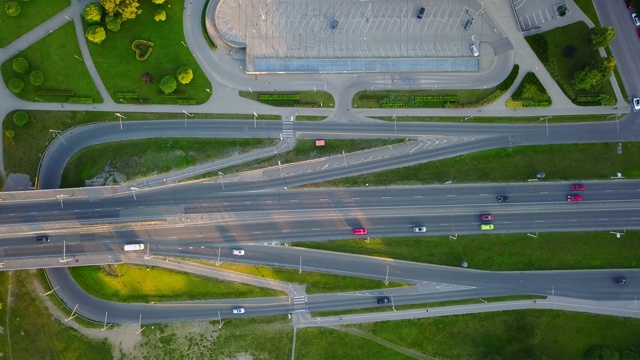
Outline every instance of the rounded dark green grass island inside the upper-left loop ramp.
<path id="1" fill-rule="evenodd" d="M 73 155 L 62 173 L 62 188 L 112 171 L 133 180 L 213 161 L 277 143 L 275 139 L 156 138 L 94 145 Z"/>

